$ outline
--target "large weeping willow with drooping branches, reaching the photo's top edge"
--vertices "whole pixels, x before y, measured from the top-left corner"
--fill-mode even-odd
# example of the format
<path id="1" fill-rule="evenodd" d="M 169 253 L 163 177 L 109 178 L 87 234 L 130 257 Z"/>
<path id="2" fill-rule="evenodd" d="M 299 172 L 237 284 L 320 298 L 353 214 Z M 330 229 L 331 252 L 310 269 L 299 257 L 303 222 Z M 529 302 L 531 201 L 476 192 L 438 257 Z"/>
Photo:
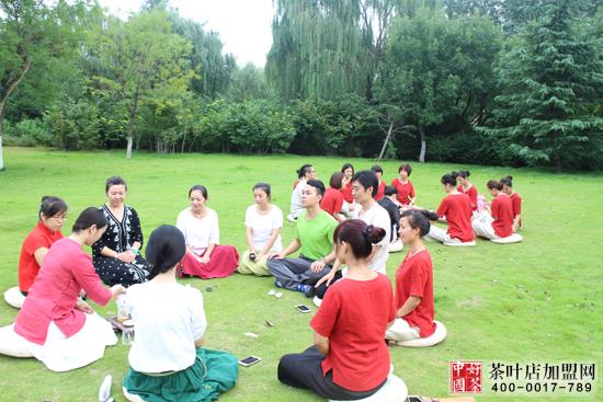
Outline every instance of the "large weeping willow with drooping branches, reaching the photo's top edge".
<path id="1" fill-rule="evenodd" d="M 275 9 L 266 77 L 281 97 L 364 95 L 371 57 L 359 1 L 278 0 Z"/>

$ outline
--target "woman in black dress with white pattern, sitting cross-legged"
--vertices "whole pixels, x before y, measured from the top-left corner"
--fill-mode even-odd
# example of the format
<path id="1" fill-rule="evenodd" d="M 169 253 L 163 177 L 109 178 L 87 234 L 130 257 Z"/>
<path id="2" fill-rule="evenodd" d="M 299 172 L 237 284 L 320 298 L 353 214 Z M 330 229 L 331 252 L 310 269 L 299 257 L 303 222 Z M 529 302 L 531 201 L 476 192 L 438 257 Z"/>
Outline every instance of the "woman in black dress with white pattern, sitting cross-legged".
<path id="1" fill-rule="evenodd" d="M 149 265 L 140 255 L 143 230 L 136 209 L 124 204 L 127 184 L 120 176 L 106 180 L 107 202 L 101 207 L 109 221 L 103 237 L 92 246 L 92 262 L 106 285 L 128 287 L 147 280 Z"/>

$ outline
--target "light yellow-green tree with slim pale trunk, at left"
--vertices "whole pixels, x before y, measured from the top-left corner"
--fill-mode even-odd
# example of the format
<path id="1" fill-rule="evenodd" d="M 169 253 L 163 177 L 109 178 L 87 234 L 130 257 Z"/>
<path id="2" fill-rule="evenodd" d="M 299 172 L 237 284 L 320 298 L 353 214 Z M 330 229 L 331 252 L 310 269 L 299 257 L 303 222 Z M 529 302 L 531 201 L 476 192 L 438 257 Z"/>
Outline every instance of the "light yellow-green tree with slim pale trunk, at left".
<path id="1" fill-rule="evenodd" d="M 143 104 L 173 102 L 174 93 L 186 93 L 192 77 L 186 59 L 190 50 L 190 43 L 172 32 L 168 13 L 160 9 L 141 12 L 127 22 L 110 19 L 103 25 L 90 49 L 100 72 L 90 87 L 95 95 L 114 102 L 124 116 L 126 158 L 132 157 Z"/>

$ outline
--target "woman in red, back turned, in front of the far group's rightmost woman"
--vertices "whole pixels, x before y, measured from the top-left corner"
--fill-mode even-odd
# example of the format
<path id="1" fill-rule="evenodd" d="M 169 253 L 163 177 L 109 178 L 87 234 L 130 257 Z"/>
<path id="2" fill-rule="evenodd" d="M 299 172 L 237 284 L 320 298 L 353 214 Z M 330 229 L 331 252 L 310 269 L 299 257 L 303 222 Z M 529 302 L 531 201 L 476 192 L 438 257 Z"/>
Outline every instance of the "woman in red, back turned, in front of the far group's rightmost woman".
<path id="1" fill-rule="evenodd" d="M 508 238 L 513 234 L 513 203 L 502 192 L 502 183 L 490 180 L 486 186 L 494 197 L 490 205 L 491 218 L 474 219 L 471 225 L 477 236 L 492 240 Z"/>

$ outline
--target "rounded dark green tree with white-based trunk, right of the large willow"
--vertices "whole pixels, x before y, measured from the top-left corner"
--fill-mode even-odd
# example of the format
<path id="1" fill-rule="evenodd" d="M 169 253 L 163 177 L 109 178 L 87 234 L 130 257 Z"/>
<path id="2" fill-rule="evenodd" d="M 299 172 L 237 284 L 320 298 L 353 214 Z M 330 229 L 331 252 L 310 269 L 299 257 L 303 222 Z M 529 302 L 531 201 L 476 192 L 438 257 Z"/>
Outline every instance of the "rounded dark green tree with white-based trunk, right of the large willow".
<path id="1" fill-rule="evenodd" d="M 396 20 L 379 101 L 405 126 L 416 128 L 419 161 L 425 159 L 429 135 L 444 122 L 462 129 L 485 107 L 499 50 L 500 30 L 485 16 L 451 20 L 442 10 L 421 9 L 413 18 Z"/>

